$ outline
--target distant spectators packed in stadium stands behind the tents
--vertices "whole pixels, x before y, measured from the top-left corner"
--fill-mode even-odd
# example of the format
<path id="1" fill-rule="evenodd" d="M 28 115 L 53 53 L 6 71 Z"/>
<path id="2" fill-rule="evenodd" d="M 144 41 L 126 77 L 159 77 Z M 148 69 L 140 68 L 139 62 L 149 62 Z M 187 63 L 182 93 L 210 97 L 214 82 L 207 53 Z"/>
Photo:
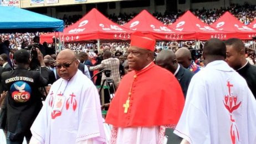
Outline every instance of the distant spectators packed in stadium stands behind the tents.
<path id="1" fill-rule="evenodd" d="M 238 4 L 231 4 L 230 7 L 227 8 L 219 8 L 219 9 L 191 9 L 191 11 L 204 23 L 212 24 L 214 23 L 224 12 L 229 11 L 235 17 L 237 17 L 240 22 L 244 23 L 245 25 L 252 22 L 256 17 L 256 6 L 244 4 L 240 6 Z M 170 25 L 178 19 L 183 14 L 182 11 L 178 11 L 177 13 L 174 12 L 165 12 L 165 13 L 153 13 L 160 22 L 165 25 Z M 122 14 L 120 13 L 118 16 L 117 14 L 110 14 L 107 16 L 113 22 L 116 22 L 120 25 L 124 25 L 125 23 L 129 22 L 132 18 L 134 18 L 136 14 Z M 68 27 L 71 24 L 74 24 L 77 20 L 79 20 L 82 16 L 74 15 L 74 16 L 66 16 L 62 18 L 65 22 L 65 27 Z M 9 34 L 0 34 L 0 38 L 2 40 L 9 40 L 10 48 L 11 49 L 19 49 L 22 48 L 24 44 L 32 44 L 33 38 L 35 36 L 39 36 L 40 33 L 9 33 Z M 184 43 L 192 43 L 188 44 L 191 47 L 195 47 L 193 42 L 184 42 Z M 116 47 L 116 48 L 126 48 L 127 43 L 109 43 L 109 47 Z M 157 43 L 158 47 L 161 48 L 168 48 L 168 47 L 176 47 L 178 44 L 177 42 L 159 42 Z M 184 44 L 182 44 L 184 45 Z M 48 47 L 51 47 L 51 44 L 48 44 Z M 83 43 L 70 43 L 65 45 L 66 48 L 74 49 L 74 50 L 83 50 L 86 51 L 87 49 L 93 48 L 93 44 L 83 44 Z M 248 42 L 248 47 L 252 47 L 251 42 Z"/>

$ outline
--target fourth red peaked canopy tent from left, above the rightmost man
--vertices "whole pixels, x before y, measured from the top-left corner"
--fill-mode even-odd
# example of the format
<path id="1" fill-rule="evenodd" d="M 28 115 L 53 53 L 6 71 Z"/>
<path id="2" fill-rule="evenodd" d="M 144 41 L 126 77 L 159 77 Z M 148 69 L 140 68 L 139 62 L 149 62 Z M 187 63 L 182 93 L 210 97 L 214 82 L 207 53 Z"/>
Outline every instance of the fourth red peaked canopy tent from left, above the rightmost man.
<path id="1" fill-rule="evenodd" d="M 218 30 L 223 30 L 226 32 L 235 33 L 232 37 L 239 38 L 242 40 L 252 39 L 253 35 L 256 35 L 256 30 L 247 27 L 241 23 L 237 18 L 232 16 L 231 13 L 224 13 L 216 22 L 214 22 L 212 27 Z"/>

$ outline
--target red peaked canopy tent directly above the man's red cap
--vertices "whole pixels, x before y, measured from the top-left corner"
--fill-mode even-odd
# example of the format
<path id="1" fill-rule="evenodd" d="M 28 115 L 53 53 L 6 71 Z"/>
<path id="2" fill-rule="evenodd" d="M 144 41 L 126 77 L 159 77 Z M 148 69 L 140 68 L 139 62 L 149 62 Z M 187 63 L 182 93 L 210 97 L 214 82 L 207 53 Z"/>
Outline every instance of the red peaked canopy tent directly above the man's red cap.
<path id="1" fill-rule="evenodd" d="M 152 34 L 158 40 L 190 40 L 195 35 L 195 33 L 185 33 L 168 28 L 146 10 L 141 11 L 123 27 L 145 34 Z"/>

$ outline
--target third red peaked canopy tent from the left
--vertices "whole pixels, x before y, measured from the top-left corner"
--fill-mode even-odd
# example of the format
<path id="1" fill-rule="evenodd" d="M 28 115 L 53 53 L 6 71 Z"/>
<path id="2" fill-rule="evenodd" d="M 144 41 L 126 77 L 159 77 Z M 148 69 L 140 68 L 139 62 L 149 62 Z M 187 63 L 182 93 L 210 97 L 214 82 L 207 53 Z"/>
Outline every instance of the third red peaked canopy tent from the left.
<path id="1" fill-rule="evenodd" d="M 222 32 L 214 29 L 199 20 L 193 13 L 187 11 L 177 21 L 170 25 L 170 28 L 176 29 L 180 32 L 195 32 L 196 40 L 208 40 L 211 38 L 227 39 L 229 32 Z"/>

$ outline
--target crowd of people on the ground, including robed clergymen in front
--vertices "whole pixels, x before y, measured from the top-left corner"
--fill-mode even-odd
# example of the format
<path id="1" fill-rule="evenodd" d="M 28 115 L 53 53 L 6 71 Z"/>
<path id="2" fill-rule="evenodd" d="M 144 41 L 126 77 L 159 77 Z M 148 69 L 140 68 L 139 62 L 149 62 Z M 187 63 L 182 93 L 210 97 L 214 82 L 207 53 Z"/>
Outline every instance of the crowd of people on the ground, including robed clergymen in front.
<path id="1" fill-rule="evenodd" d="M 13 63 L 0 54 L 7 143 L 256 142 L 256 66 L 240 39 L 209 39 L 203 53 L 156 50 L 152 35 L 135 32 L 125 53 L 106 44 L 55 55 L 38 38 Z"/>

